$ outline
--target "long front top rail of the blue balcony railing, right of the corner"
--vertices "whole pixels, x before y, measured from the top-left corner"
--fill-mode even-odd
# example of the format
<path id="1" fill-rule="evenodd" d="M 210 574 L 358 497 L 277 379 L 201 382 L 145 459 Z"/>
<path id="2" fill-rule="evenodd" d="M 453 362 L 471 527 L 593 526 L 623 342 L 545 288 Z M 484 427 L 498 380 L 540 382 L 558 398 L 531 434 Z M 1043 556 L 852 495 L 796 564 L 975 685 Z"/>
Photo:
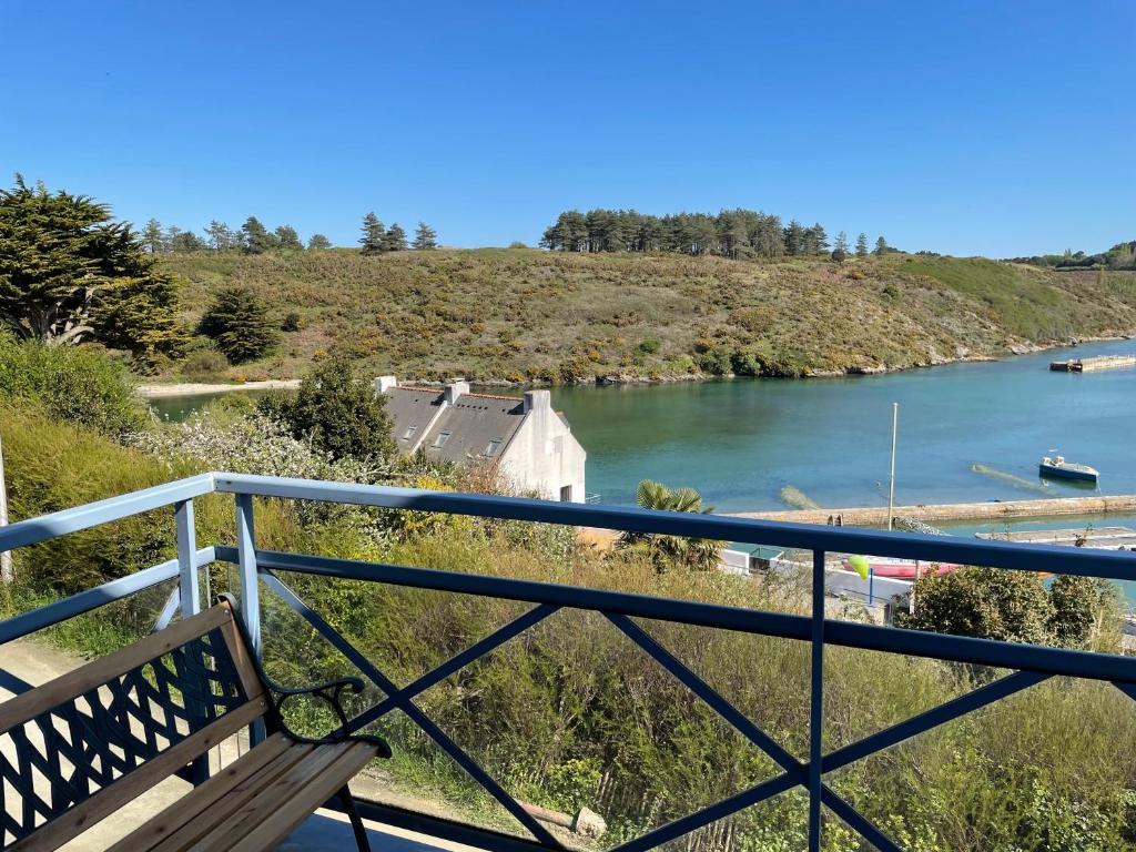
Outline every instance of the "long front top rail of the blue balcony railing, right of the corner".
<path id="1" fill-rule="evenodd" d="M 1013 544 L 918 533 L 886 533 L 816 524 L 735 518 L 721 515 L 661 512 L 634 507 L 562 503 L 461 492 L 423 491 L 353 483 L 287 479 L 244 474 L 214 474 L 217 491 L 258 496 L 415 509 L 476 517 L 661 533 L 700 538 L 774 544 L 800 550 L 864 553 L 877 557 L 959 562 L 1019 570 L 1075 574 L 1109 579 L 1136 578 L 1136 553 L 1085 551 L 1047 544 Z"/>

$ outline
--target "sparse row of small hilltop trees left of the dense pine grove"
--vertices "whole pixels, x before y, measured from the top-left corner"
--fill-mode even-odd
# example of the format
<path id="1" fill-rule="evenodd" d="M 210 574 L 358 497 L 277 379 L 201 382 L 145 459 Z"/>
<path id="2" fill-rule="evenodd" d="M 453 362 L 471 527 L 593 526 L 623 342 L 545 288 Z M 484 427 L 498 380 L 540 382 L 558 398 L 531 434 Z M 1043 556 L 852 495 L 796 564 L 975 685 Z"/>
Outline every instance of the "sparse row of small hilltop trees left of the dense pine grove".
<path id="1" fill-rule="evenodd" d="M 425 222 L 418 223 L 414 243 L 407 243 L 406 232 L 398 223 L 384 228 L 375 214 L 364 218 L 364 235 L 359 240 L 365 254 L 384 251 L 404 251 L 414 249 L 436 249 L 437 233 Z M 193 231 L 182 231 L 176 225 L 162 228 L 157 219 L 150 219 L 142 231 L 142 244 L 154 254 L 166 252 L 191 251 L 243 251 L 245 254 L 262 254 L 274 249 L 302 250 L 303 241 L 291 225 L 278 225 L 274 231 L 265 227 L 256 216 L 250 216 L 239 228 L 232 228 L 224 222 L 214 219 L 201 228 L 204 236 Z M 332 241 L 323 234 L 308 237 L 308 249 L 331 249 Z"/>

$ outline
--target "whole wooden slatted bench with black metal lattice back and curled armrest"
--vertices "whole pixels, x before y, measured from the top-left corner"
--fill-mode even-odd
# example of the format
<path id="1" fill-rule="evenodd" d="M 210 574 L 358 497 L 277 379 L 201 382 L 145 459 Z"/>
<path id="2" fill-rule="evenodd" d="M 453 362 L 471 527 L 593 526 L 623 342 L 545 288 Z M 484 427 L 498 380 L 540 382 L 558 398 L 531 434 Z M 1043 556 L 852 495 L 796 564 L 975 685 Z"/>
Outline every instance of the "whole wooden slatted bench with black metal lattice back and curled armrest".
<path id="1" fill-rule="evenodd" d="M 53 850 L 172 775 L 203 778 L 208 751 L 254 722 L 267 736 L 112 849 L 273 849 L 339 797 L 356 842 L 367 835 L 348 782 L 376 757 L 377 737 L 310 740 L 281 705 L 315 695 L 346 722 L 354 678 L 304 690 L 272 683 L 250 653 L 232 601 L 0 703 L 0 846 Z M 12 795 L 15 792 L 15 795 Z"/>

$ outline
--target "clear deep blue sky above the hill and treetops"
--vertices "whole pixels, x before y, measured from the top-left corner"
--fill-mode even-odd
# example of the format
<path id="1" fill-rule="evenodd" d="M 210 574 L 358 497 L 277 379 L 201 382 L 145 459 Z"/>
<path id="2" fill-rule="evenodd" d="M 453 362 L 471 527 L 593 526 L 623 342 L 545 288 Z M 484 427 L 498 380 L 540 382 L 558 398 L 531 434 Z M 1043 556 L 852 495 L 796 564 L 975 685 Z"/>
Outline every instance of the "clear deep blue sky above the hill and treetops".
<path id="1" fill-rule="evenodd" d="M 0 36 L 0 170 L 136 223 L 354 244 L 375 210 L 474 247 L 741 206 L 957 254 L 1136 239 L 1131 0 L 3 0 Z"/>

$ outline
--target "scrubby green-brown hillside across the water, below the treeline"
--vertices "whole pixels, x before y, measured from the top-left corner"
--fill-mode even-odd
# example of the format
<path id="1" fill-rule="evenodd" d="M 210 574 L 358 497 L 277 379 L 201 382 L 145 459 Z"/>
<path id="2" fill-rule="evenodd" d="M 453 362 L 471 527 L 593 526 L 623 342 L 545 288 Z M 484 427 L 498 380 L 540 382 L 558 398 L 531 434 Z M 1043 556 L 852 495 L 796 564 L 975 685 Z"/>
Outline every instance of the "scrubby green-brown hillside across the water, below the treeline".
<path id="1" fill-rule="evenodd" d="M 299 331 L 272 357 L 169 378 L 286 378 L 341 350 L 375 374 L 592 382 L 897 369 L 1136 332 L 1136 274 L 893 254 L 779 261 L 529 249 L 192 253 L 187 319 L 244 284 Z M 204 341 L 200 341 L 203 346 Z"/>

